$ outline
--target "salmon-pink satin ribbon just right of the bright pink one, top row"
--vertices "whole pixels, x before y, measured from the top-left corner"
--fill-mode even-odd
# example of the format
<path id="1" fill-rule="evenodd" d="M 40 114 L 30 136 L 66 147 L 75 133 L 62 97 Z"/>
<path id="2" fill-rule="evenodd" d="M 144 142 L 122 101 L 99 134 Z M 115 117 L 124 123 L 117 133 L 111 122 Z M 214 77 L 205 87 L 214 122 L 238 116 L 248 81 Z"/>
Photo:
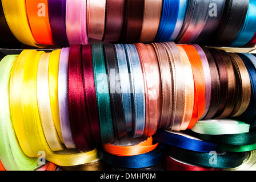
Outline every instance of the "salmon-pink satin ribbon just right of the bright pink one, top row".
<path id="1" fill-rule="evenodd" d="M 87 0 L 86 4 L 88 38 L 102 40 L 105 31 L 106 0 Z"/>

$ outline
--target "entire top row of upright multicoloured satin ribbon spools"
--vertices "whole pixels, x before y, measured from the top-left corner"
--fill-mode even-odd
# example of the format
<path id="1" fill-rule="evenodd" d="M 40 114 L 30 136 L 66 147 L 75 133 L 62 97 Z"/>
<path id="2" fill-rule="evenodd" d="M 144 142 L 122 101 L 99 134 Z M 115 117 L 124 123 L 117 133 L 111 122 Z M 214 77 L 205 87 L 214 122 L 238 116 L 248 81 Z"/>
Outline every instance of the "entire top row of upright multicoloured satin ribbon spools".
<path id="1" fill-rule="evenodd" d="M 2 0 L 1 44 L 255 43 L 253 0 Z M 136 8 L 134 8 L 136 7 Z M 230 34 L 230 32 L 232 32 Z"/>

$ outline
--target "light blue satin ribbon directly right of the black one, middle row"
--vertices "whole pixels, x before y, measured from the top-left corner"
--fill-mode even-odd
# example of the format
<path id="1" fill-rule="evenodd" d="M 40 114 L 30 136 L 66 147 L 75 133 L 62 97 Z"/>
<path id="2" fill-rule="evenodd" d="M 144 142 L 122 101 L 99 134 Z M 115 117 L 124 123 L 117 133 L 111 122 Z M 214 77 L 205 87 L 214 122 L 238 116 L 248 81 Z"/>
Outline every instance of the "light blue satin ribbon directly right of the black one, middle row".
<path id="1" fill-rule="evenodd" d="M 131 107 L 130 78 L 126 59 L 125 47 L 123 44 L 114 44 L 117 51 L 118 69 L 120 73 L 120 89 L 122 93 L 123 111 L 125 112 L 125 122 L 127 133 L 133 130 L 133 111 Z"/>

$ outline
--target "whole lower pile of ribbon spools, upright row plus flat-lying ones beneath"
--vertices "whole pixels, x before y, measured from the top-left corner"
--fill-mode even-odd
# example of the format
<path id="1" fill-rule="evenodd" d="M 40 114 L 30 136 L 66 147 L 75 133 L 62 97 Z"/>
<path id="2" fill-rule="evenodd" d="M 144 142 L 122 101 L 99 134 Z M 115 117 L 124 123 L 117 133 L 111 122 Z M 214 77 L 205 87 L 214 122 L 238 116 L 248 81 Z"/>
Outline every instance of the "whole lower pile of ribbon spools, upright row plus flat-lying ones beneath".
<path id="1" fill-rule="evenodd" d="M 8 171 L 255 169 L 253 54 L 72 44 L 7 55 L 0 73 Z"/>

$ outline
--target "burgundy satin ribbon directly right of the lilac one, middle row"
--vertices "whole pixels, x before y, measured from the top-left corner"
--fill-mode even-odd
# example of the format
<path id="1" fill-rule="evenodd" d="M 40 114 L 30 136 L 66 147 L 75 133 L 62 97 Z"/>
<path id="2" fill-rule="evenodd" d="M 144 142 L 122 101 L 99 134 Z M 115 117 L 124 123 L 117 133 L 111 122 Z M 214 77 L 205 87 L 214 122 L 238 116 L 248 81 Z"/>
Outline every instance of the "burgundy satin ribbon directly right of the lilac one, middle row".
<path id="1" fill-rule="evenodd" d="M 67 93 L 70 127 L 75 147 L 83 152 L 91 151 L 96 147 L 96 143 L 93 140 L 93 131 L 90 129 L 86 111 L 81 44 L 70 46 Z"/>

